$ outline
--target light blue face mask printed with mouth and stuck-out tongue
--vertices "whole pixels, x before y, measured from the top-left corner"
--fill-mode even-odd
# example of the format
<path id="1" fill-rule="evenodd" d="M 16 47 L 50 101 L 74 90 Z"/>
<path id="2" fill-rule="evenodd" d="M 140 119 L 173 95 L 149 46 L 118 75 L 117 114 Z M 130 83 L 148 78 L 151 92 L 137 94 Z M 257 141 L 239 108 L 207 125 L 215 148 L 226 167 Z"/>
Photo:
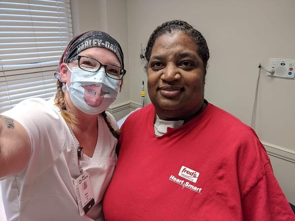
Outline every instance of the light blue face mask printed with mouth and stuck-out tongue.
<path id="1" fill-rule="evenodd" d="M 67 66 L 68 67 L 68 66 Z M 108 78 L 105 69 L 89 72 L 79 67 L 68 67 L 71 74 L 69 91 L 73 104 L 80 111 L 88 114 L 99 114 L 115 101 L 120 90 L 121 81 Z"/>

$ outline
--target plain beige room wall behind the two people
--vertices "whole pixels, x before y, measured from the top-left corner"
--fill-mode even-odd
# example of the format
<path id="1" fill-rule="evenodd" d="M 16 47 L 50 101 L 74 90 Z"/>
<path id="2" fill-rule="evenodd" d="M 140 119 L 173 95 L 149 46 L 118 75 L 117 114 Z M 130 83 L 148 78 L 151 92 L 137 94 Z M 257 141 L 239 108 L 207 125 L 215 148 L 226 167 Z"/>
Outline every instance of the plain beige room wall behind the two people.
<path id="1" fill-rule="evenodd" d="M 121 43 L 127 75 L 115 108 L 129 102 L 141 104 L 141 85 L 147 77 L 140 45 L 145 46 L 152 30 L 168 20 L 186 20 L 203 33 L 210 50 L 205 98 L 248 125 L 259 63 L 267 67 L 268 58 L 295 59 L 295 0 L 71 1 L 78 4 L 72 9 L 73 13 L 77 10 L 73 14 L 75 31 L 106 30 Z M 149 103 L 148 96 L 145 101 Z M 266 149 L 275 152 L 275 158 L 271 156 L 275 174 L 293 204 L 294 113 L 295 80 L 269 78 L 261 71 L 255 130 L 267 142 Z"/>

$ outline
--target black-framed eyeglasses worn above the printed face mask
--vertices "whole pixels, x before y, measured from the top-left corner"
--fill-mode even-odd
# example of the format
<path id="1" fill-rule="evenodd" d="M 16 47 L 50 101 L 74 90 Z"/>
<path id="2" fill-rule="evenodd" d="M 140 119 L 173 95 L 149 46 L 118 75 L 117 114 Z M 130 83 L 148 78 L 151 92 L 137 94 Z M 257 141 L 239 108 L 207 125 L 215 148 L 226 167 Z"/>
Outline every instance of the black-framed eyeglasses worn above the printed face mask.
<path id="1" fill-rule="evenodd" d="M 123 68 L 111 64 L 102 64 L 98 60 L 95 60 L 91 57 L 77 55 L 72 57 L 69 62 L 72 62 L 74 60 L 78 60 L 79 68 L 84 71 L 97 72 L 101 67 L 104 67 L 107 76 L 116 80 L 121 80 L 126 74 L 126 70 L 124 70 Z"/>

